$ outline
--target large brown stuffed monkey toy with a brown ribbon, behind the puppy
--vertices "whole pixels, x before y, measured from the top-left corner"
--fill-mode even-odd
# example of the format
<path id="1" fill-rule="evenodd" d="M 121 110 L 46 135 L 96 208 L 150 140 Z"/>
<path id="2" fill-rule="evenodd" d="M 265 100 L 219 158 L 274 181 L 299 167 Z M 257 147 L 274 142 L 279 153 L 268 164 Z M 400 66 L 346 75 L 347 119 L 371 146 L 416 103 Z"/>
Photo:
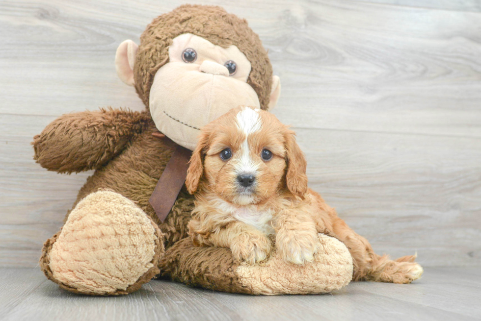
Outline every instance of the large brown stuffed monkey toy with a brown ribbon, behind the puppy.
<path id="1" fill-rule="evenodd" d="M 156 275 L 267 295 L 325 293 L 351 280 L 347 247 L 326 235 L 319 235 L 315 261 L 302 266 L 275 254 L 246 265 L 230 249 L 194 247 L 187 237 L 193 197 L 175 173 L 187 170 L 199 128 L 238 105 L 268 110 L 280 94 L 245 20 L 220 7 L 183 5 L 154 19 L 139 46 L 124 41 L 115 63 L 145 111 L 66 114 L 34 137 L 42 167 L 95 170 L 63 227 L 45 242 L 40 266 L 49 279 L 87 295 L 128 294 Z"/>

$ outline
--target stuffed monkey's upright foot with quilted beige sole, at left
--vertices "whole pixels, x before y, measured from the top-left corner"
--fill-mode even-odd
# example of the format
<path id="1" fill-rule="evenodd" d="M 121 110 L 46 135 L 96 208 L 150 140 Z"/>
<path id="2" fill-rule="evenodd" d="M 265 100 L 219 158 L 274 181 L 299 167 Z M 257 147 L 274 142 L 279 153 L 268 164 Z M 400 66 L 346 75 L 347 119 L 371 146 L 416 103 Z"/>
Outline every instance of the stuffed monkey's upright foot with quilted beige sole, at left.
<path id="1" fill-rule="evenodd" d="M 43 248 L 47 277 L 71 292 L 122 295 L 159 273 L 159 227 L 134 202 L 110 191 L 82 199 Z"/>

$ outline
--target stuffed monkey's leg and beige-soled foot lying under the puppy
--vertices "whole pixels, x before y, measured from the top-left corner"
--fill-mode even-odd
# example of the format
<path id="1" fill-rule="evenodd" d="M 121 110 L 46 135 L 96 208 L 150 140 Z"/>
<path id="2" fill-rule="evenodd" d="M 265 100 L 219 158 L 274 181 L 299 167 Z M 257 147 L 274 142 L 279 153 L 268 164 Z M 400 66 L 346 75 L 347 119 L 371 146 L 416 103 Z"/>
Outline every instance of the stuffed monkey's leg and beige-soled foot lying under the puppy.
<path id="1" fill-rule="evenodd" d="M 170 247 L 160 261 L 162 275 L 190 286 L 253 295 L 319 294 L 352 279 L 352 258 L 337 239 L 319 234 L 314 262 L 286 263 L 277 253 L 263 265 L 234 262 L 230 249 L 194 247 L 190 238 Z"/>

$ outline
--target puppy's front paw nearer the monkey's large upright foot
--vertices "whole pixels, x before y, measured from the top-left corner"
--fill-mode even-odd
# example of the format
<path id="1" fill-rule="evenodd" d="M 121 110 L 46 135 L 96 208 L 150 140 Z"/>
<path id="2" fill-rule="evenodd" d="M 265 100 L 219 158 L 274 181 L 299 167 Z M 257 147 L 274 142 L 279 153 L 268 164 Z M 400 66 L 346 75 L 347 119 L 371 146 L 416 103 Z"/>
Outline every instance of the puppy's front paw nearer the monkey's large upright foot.
<path id="1" fill-rule="evenodd" d="M 267 259 L 272 248 L 270 240 L 263 235 L 240 235 L 231 244 L 232 255 L 237 261 L 255 264 Z"/>

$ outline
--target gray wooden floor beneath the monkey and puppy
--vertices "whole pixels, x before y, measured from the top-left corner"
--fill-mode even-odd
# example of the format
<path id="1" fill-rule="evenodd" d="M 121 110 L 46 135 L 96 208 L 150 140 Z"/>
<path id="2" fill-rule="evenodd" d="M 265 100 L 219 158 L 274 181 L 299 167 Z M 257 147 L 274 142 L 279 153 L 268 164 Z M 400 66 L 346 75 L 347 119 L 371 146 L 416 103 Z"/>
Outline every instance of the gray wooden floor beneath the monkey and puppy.
<path id="1" fill-rule="evenodd" d="M 151 281 L 120 297 L 79 296 L 33 269 L 0 269 L 0 320 L 481 320 L 475 268 L 428 268 L 410 285 L 353 282 L 331 295 L 245 296 Z"/>

